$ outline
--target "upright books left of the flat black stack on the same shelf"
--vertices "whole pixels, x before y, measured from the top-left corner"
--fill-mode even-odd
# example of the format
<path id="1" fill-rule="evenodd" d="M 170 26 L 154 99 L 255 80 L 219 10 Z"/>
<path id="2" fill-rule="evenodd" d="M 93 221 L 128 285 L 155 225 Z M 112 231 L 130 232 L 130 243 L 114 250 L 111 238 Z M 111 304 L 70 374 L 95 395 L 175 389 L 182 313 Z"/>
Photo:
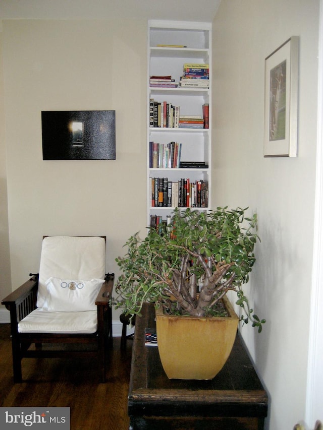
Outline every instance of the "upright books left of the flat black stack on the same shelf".
<path id="1" fill-rule="evenodd" d="M 149 167 L 179 168 L 181 161 L 182 144 L 170 142 L 167 144 L 149 142 Z"/>

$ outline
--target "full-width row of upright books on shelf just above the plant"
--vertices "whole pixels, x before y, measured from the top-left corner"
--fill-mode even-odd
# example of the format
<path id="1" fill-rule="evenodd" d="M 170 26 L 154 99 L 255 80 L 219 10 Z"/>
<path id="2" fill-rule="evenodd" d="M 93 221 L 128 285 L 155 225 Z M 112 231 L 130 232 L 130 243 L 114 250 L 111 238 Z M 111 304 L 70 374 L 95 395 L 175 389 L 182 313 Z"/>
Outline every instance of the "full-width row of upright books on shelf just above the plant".
<path id="1" fill-rule="evenodd" d="M 150 178 L 152 207 L 207 208 L 208 183 L 181 178 L 170 181 L 167 177 Z"/>

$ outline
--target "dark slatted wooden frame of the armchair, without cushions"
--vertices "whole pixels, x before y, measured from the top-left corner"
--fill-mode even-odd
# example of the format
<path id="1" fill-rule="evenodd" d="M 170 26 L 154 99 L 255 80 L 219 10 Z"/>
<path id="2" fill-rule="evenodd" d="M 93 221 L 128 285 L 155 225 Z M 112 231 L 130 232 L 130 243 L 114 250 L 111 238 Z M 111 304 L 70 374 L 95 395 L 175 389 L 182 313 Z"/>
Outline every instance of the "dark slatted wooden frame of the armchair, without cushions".
<path id="1" fill-rule="evenodd" d="M 22 358 L 30 357 L 97 357 L 100 381 L 105 382 L 106 349 L 112 345 L 112 297 L 114 273 L 105 275 L 105 282 L 95 300 L 97 308 L 97 331 L 92 334 L 19 333 L 18 323 L 36 309 L 38 273 L 2 300 L 10 311 L 14 382 L 22 382 Z M 37 348 L 29 349 L 31 344 Z M 93 350 L 59 349 L 45 350 L 41 344 L 92 344 Z"/>

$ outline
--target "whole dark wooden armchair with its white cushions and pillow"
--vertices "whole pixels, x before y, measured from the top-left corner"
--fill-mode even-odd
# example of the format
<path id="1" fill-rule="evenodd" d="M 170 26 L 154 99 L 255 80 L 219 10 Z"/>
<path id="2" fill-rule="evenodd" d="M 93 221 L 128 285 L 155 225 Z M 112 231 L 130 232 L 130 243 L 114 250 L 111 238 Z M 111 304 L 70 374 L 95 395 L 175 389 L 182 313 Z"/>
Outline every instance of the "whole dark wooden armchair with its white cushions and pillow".
<path id="1" fill-rule="evenodd" d="M 14 382 L 22 382 L 23 357 L 97 357 L 105 382 L 114 284 L 114 274 L 105 274 L 105 247 L 105 236 L 43 238 L 39 274 L 2 300 L 10 311 Z M 49 343 L 55 350 L 46 350 Z"/>

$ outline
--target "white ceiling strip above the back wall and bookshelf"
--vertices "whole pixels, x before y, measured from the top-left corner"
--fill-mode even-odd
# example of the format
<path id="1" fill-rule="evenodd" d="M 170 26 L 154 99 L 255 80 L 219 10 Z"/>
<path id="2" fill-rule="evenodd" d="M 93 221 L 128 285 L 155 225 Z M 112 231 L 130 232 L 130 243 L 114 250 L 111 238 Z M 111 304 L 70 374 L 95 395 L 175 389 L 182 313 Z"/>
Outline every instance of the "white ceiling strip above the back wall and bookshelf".
<path id="1" fill-rule="evenodd" d="M 211 22 L 221 0 L 0 0 L 0 19 L 114 19 Z"/>

